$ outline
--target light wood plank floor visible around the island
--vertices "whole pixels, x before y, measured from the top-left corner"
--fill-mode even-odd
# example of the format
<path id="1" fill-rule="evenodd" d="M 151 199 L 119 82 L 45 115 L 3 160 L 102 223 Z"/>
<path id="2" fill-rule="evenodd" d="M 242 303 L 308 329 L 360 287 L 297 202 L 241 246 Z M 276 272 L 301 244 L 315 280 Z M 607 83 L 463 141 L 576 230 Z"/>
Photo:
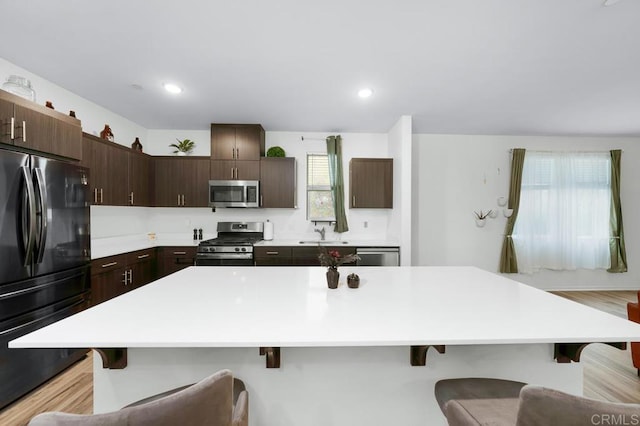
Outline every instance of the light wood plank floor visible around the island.
<path id="1" fill-rule="evenodd" d="M 635 291 L 554 293 L 622 318 L 627 317 L 627 302 L 637 301 Z M 91 414 L 92 356 L 89 353 L 87 358 L 0 411 L 0 425 L 26 425 L 33 416 L 45 411 Z M 629 349 L 621 351 L 603 344 L 591 344 L 582 352 L 581 362 L 584 364 L 585 396 L 604 401 L 640 403 L 640 378 L 631 364 Z"/>

